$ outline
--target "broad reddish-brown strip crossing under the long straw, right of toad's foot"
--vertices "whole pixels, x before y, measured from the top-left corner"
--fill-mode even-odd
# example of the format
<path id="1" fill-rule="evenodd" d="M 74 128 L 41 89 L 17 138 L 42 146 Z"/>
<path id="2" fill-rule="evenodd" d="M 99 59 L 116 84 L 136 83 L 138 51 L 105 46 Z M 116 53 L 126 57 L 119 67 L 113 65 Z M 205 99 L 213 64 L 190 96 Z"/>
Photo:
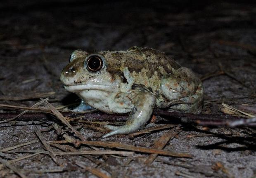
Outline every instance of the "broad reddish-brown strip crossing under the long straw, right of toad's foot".
<path id="1" fill-rule="evenodd" d="M 168 143 L 168 141 L 171 138 L 173 138 L 173 136 L 179 134 L 182 131 L 180 128 L 177 129 L 178 131 L 175 131 L 175 129 L 177 129 L 177 128 L 173 128 L 173 129 L 169 130 L 166 134 L 162 135 L 160 138 L 157 138 L 156 143 L 151 148 L 163 149 L 165 147 L 165 145 Z M 150 164 L 150 163 L 154 162 L 154 159 L 156 159 L 156 157 L 157 157 L 157 154 L 151 154 L 144 163 Z"/>

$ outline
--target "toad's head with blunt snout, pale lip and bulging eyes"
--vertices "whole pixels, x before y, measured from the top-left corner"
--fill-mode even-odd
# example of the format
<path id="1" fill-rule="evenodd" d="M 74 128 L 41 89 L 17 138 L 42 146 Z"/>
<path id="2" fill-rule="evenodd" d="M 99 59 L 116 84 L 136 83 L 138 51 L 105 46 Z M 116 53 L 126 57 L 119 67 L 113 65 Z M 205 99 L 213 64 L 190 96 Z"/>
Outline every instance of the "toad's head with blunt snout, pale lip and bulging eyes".
<path id="1" fill-rule="evenodd" d="M 76 94 L 92 90 L 111 92 L 118 85 L 116 77 L 107 70 L 105 57 L 83 50 L 76 50 L 70 55 L 60 80 L 66 90 Z"/>

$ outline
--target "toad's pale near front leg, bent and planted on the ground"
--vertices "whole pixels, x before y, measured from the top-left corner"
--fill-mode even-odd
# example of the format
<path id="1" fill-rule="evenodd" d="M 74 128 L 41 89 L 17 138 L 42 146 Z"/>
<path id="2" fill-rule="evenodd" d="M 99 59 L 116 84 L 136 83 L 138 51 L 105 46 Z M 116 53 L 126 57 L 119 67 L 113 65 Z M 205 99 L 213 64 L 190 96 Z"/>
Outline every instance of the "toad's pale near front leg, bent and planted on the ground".
<path id="1" fill-rule="evenodd" d="M 118 134 L 133 133 L 144 126 L 150 119 L 156 102 L 154 94 L 147 91 L 134 91 L 128 96 L 128 98 L 130 98 L 134 107 L 130 112 L 129 119 L 126 121 L 126 124 L 118 127 L 108 134 L 105 134 L 102 138 Z"/>

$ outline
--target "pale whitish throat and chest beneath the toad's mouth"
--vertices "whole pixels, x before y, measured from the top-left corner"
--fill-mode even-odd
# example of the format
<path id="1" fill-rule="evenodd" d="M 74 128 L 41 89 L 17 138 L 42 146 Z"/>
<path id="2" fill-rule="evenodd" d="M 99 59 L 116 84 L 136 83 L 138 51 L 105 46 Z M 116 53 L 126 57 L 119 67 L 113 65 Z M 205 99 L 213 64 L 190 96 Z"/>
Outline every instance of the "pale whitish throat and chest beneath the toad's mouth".
<path id="1" fill-rule="evenodd" d="M 133 104 L 126 97 L 126 94 L 85 90 L 80 92 L 78 96 L 93 108 L 107 113 L 127 113 L 133 109 Z"/>

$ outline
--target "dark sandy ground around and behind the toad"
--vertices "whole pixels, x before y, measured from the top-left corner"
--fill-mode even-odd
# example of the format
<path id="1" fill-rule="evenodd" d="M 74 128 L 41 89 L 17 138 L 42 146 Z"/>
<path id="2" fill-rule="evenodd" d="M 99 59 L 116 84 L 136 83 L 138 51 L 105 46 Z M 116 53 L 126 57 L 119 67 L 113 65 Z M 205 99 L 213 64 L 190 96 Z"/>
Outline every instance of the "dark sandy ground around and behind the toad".
<path id="1" fill-rule="evenodd" d="M 49 102 L 56 107 L 79 102 L 59 81 L 73 50 L 95 52 L 138 46 L 159 49 L 201 77 L 205 88 L 202 113 L 221 114 L 218 110 L 221 103 L 255 106 L 256 4 L 246 2 L 0 2 L 0 104 L 31 107 L 39 98 L 47 97 L 48 92 L 54 92 Z M 31 97 L 36 94 L 44 95 Z M 3 121 L 6 112 L 21 111 L 1 107 L 0 112 Z M 55 129 L 47 130 L 55 122 L 64 126 L 61 122 L 47 115 L 42 119 L 21 117 L 17 122 L 0 123 L 0 149 L 38 141 L 35 133 L 38 129 L 46 141 L 64 140 Z M 81 126 L 81 123 L 71 124 Z M 178 126 L 171 130 L 173 137 L 164 150 L 186 152 L 192 158 L 159 155 L 152 164 L 145 164 L 149 154 L 135 152 L 128 157 L 63 155 L 56 156 L 55 163 L 50 156 L 38 154 L 10 165 L 27 177 L 42 178 L 256 177 L 255 129 L 173 124 Z M 86 125 L 78 131 L 88 140 L 102 135 Z M 97 140 L 150 148 L 167 132 L 170 129 L 134 138 L 116 136 Z M 69 144 L 64 146 L 74 149 Z M 36 142 L 13 151 L 43 148 L 41 142 Z M 52 149 L 65 150 L 53 146 Z M 85 145 L 77 149 L 92 150 Z M 0 150 L 0 162 L 32 154 Z M 93 170 L 102 175 L 96 176 Z M 0 167 L 0 177 L 18 177 L 14 172 Z"/>

